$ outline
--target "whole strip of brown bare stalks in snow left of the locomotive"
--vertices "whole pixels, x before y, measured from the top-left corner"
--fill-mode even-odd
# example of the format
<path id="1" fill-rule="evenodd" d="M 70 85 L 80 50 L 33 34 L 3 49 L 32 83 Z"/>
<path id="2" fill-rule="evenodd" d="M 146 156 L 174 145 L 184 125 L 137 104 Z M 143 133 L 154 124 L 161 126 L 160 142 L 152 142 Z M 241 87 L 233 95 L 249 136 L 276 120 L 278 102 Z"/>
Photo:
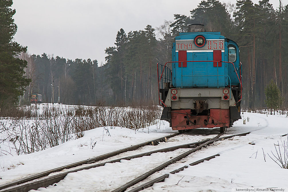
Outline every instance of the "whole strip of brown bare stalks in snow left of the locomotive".
<path id="1" fill-rule="evenodd" d="M 34 107 L 21 109 L 0 121 L 0 156 L 16 152 L 33 153 L 84 136 L 86 130 L 98 127 L 125 127 L 133 130 L 158 122 L 161 111 L 156 106 L 137 107 Z M 41 112 L 41 113 L 40 113 Z M 6 150 L 1 149 L 1 146 Z M 7 148 L 9 150 L 7 150 Z"/>

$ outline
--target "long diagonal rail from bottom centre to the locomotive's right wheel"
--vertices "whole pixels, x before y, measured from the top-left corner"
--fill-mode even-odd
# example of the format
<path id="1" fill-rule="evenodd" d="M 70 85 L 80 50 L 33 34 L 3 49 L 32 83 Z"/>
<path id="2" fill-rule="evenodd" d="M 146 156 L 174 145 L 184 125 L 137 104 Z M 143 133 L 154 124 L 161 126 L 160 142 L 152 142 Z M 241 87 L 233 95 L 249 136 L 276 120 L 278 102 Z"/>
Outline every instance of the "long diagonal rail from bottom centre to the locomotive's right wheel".
<path id="1" fill-rule="evenodd" d="M 250 132 L 243 133 L 243 134 L 239 134 L 239 136 L 241 136 L 241 135 L 247 135 L 247 134 L 249 134 L 249 133 L 250 133 Z M 143 175 L 141 175 L 141 176 L 139 176 L 139 177 L 131 180 L 130 182 L 128 182 L 128 183 L 126 183 L 126 184 L 118 187 L 117 189 L 113 190 L 112 192 L 123 192 L 123 191 L 125 191 L 127 188 L 129 188 L 129 187 L 131 187 L 131 186 L 139 183 L 140 181 L 144 180 L 144 179 L 147 178 L 148 176 L 156 173 L 157 171 L 162 170 L 163 168 L 167 167 L 167 166 L 170 165 L 170 164 L 175 163 L 176 161 L 179 161 L 179 160 L 183 159 L 184 157 L 187 157 L 188 155 L 190 155 L 191 153 L 193 153 L 193 152 L 201 149 L 202 147 L 205 147 L 205 146 L 207 146 L 207 145 L 209 145 L 209 144 L 211 144 L 211 143 L 213 143 L 213 142 L 215 142 L 215 141 L 218 141 L 218 140 L 224 140 L 224 139 L 233 137 L 233 136 L 227 136 L 227 137 L 224 137 L 224 138 L 219 138 L 222 134 L 223 134 L 223 133 L 217 135 L 216 137 L 210 139 L 209 141 L 206 141 L 205 143 L 199 145 L 198 147 L 195 147 L 194 149 L 191 149 L 190 151 L 187 151 L 187 152 L 185 152 L 185 153 L 182 153 L 181 155 L 179 155 L 179 156 L 171 159 L 170 161 L 167 161 L 166 163 L 161 164 L 160 166 L 158 166 L 158 167 L 156 167 L 156 168 L 154 168 L 154 169 L 152 169 L 152 170 L 144 173 Z M 234 135 L 234 136 L 237 136 L 237 135 Z"/>

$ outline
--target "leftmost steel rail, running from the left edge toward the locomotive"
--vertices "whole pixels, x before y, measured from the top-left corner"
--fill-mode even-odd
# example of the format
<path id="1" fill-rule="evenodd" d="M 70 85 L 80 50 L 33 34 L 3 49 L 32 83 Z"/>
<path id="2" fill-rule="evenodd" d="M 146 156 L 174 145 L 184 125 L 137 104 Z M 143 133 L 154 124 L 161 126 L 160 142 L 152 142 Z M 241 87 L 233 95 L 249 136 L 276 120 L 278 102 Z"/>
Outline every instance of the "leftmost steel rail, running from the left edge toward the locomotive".
<path id="1" fill-rule="evenodd" d="M 177 136 L 179 134 L 180 133 L 171 134 L 171 135 L 168 135 L 168 136 L 165 136 L 165 137 L 161 137 L 161 138 L 158 138 L 158 139 L 154 139 L 154 140 L 150 140 L 150 141 L 147 141 L 147 142 L 143 142 L 143 143 L 138 144 L 138 145 L 133 145 L 131 147 L 120 149 L 118 151 L 113 151 L 111 153 L 107 153 L 107 154 L 104 154 L 104 155 L 93 157 L 91 159 L 86 159 L 84 161 L 79 161 L 79 162 L 76 162 L 76 163 L 73 163 L 73 164 L 70 164 L 70 165 L 62 166 L 62 167 L 55 168 L 55 169 L 52 169 L 52 170 L 48 170 L 48 171 L 45 171 L 45 172 L 41 172 L 41 173 L 38 173 L 38 174 L 35 174 L 35 175 L 31 175 L 31 176 L 28 176 L 28 177 L 25 177 L 25 178 L 22 178 L 22 179 L 18 179 L 18 180 L 15 180 L 15 181 L 12 181 L 12 182 L 9 182 L 9 183 L 6 183 L 6 184 L 2 184 L 2 185 L 0 185 L 0 192 L 2 192 L 1 189 L 7 188 L 7 187 L 10 187 L 10 186 L 13 186 L 13 185 L 18 185 L 18 184 L 21 184 L 21 183 L 24 183 L 24 182 L 28 182 L 28 181 L 31 181 L 31 180 L 34 180 L 34 179 L 37 179 L 37 178 L 41 178 L 41 177 L 47 176 L 47 175 L 49 175 L 51 173 L 59 172 L 59 171 L 64 170 L 64 169 L 77 167 L 77 166 L 80 166 L 80 165 L 83 165 L 83 164 L 95 163 L 97 161 L 101 161 L 101 160 L 113 157 L 115 155 L 119 155 L 120 153 L 136 150 L 136 149 L 138 149 L 140 147 L 144 147 L 146 145 L 158 145 L 159 142 L 162 142 L 162 141 L 166 142 L 167 138 L 171 138 L 171 137 Z"/>

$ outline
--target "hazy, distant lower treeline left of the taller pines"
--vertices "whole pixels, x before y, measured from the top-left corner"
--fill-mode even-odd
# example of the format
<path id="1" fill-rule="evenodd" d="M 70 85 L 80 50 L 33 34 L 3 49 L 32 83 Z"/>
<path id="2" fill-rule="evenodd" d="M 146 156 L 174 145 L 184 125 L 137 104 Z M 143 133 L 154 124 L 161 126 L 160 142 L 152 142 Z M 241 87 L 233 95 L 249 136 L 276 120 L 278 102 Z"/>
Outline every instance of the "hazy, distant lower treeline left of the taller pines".
<path id="1" fill-rule="evenodd" d="M 43 102 L 87 105 L 104 102 L 105 95 L 111 95 L 105 76 L 107 65 L 98 67 L 97 60 L 72 61 L 45 53 L 21 53 L 20 58 L 27 61 L 25 72 L 31 79 L 21 97 L 23 104 L 29 104 L 32 93 L 42 94 Z"/>

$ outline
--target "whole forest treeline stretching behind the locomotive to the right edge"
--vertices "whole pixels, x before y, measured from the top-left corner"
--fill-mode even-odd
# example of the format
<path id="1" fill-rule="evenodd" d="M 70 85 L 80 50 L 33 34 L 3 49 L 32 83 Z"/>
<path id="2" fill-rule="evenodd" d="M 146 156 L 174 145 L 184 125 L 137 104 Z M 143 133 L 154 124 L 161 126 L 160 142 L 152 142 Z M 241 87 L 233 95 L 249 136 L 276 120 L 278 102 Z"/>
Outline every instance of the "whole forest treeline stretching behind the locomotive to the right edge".
<path id="1" fill-rule="evenodd" d="M 192 23 L 204 24 L 206 31 L 220 31 L 238 43 L 243 107 L 265 107 L 264 89 L 271 79 L 287 98 L 288 5 L 281 3 L 274 9 L 268 0 L 257 4 L 205 0 L 190 12 L 187 16 L 174 14 L 173 21 L 156 28 L 147 25 L 128 33 L 120 29 L 115 46 L 105 50 L 106 63 L 100 66 L 97 60 L 22 53 L 19 57 L 27 61 L 25 74 L 31 82 L 21 103 L 29 104 L 31 92 L 42 94 L 44 102 L 58 102 L 60 91 L 60 102 L 65 104 L 158 104 L 156 63 L 171 60 L 175 36 L 187 32 Z"/>

